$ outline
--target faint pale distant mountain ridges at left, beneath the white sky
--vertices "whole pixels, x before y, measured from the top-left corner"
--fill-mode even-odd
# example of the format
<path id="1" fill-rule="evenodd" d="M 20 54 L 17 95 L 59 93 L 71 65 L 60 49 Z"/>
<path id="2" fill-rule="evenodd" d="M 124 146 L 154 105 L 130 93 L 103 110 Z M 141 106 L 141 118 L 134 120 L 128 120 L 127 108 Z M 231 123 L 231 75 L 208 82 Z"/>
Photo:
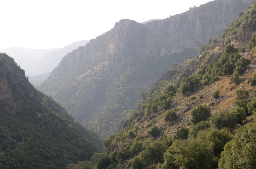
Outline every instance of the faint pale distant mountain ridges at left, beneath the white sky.
<path id="1" fill-rule="evenodd" d="M 0 50 L 1 53 L 6 53 L 12 56 L 26 71 L 26 74 L 31 77 L 44 73 L 51 72 L 58 66 L 62 57 L 79 46 L 84 46 L 89 40 L 81 40 L 67 45 L 60 49 L 28 49 L 22 47 L 10 47 Z"/>

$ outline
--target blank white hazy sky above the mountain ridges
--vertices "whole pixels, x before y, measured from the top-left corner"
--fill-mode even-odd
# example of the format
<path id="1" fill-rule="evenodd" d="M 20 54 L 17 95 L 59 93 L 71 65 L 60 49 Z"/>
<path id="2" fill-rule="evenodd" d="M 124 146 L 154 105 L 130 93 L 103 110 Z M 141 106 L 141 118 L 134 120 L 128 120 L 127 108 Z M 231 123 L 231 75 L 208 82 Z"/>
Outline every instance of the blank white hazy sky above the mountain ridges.
<path id="1" fill-rule="evenodd" d="M 211 0 L 0 0 L 0 49 L 62 48 L 94 39 L 120 19 L 144 22 Z"/>

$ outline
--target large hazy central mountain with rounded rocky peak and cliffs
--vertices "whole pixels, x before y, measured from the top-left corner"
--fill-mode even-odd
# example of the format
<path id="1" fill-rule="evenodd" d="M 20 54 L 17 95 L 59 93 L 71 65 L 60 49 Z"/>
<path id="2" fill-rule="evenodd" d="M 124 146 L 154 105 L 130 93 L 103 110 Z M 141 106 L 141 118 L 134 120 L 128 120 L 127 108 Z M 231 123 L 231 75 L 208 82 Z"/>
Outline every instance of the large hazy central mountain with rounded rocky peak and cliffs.
<path id="1" fill-rule="evenodd" d="M 140 91 L 152 86 L 173 63 L 196 57 L 202 43 L 219 36 L 252 2 L 211 1 L 146 24 L 120 20 L 68 53 L 39 89 L 75 120 L 108 137 L 121 130 Z"/>

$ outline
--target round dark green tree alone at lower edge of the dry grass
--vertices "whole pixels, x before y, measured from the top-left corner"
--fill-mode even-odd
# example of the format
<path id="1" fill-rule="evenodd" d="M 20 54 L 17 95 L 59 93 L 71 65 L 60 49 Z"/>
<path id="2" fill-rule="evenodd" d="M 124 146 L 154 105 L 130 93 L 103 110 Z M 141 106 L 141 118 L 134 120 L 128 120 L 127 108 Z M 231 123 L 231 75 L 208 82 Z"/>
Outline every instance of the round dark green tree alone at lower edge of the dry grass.
<path id="1" fill-rule="evenodd" d="M 193 108 L 190 111 L 191 115 L 191 123 L 196 124 L 201 121 L 206 121 L 210 116 L 211 116 L 211 108 L 206 106 L 205 104 L 202 105 L 197 105 L 196 108 Z"/>

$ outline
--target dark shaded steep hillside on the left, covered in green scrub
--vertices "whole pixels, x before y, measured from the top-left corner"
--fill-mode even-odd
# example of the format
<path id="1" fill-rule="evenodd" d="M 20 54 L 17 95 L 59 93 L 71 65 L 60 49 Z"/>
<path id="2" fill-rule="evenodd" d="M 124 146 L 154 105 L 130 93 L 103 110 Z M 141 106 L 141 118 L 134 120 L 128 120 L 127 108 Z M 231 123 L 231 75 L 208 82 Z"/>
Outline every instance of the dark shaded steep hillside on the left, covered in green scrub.
<path id="1" fill-rule="evenodd" d="M 65 168 L 101 151 L 102 140 L 36 90 L 0 53 L 0 168 Z"/>

